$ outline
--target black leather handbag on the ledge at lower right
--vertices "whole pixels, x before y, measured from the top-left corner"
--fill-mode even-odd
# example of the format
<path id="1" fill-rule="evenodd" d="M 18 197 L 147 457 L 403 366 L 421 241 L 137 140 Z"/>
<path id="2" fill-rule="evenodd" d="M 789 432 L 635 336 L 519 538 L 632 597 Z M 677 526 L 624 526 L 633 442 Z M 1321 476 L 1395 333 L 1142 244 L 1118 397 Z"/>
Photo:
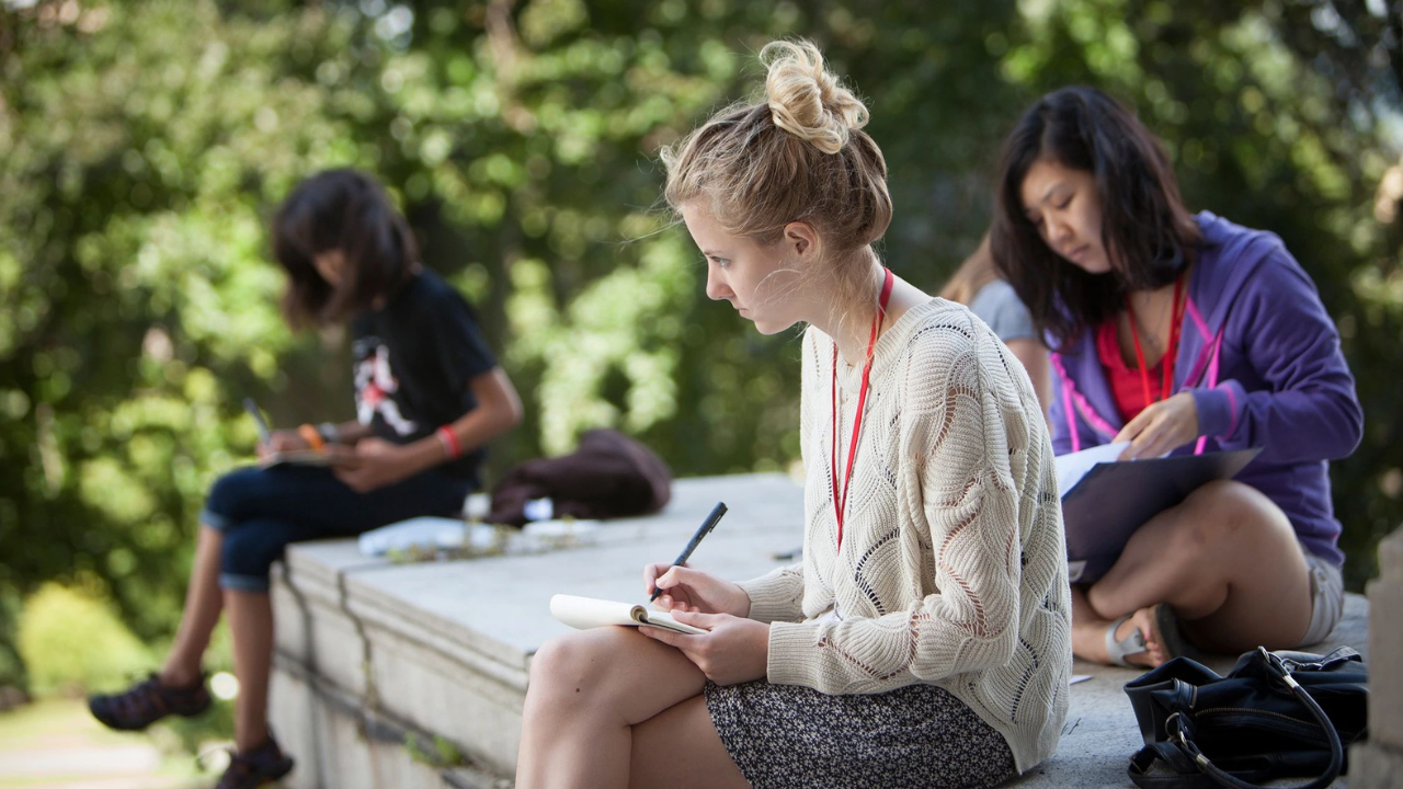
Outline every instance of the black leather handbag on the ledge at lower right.
<path id="1" fill-rule="evenodd" d="M 1226 677 L 1177 657 L 1125 685 L 1145 747 L 1129 776 L 1143 789 L 1257 789 L 1310 776 L 1323 789 L 1365 736 L 1368 671 L 1360 653 L 1244 653 Z"/>

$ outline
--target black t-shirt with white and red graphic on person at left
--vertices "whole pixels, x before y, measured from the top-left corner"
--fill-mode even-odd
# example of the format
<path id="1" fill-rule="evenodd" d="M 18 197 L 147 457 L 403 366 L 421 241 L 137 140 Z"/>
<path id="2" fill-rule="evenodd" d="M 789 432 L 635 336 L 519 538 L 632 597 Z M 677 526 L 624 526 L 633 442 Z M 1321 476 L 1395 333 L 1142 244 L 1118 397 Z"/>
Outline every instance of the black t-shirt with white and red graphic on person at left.
<path id="1" fill-rule="evenodd" d="M 477 313 L 429 270 L 405 282 L 380 309 L 351 321 L 356 418 L 375 435 L 410 444 L 477 407 L 469 386 L 497 366 Z M 478 487 L 484 449 L 439 466 Z"/>

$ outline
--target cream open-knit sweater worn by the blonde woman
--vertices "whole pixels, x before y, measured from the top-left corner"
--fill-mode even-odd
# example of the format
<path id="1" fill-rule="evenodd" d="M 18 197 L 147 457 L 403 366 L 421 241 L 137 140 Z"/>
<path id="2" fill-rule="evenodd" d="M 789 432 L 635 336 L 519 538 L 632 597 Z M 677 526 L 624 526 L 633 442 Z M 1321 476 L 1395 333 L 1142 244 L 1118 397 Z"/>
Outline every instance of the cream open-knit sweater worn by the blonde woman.
<path id="1" fill-rule="evenodd" d="M 962 306 L 906 310 L 877 340 L 839 552 L 833 341 L 811 327 L 803 358 L 804 560 L 741 584 L 751 618 L 773 623 L 769 681 L 932 682 L 1027 771 L 1056 748 L 1072 667 L 1056 472 L 1027 373 Z M 861 368 L 838 366 L 842 473 Z"/>

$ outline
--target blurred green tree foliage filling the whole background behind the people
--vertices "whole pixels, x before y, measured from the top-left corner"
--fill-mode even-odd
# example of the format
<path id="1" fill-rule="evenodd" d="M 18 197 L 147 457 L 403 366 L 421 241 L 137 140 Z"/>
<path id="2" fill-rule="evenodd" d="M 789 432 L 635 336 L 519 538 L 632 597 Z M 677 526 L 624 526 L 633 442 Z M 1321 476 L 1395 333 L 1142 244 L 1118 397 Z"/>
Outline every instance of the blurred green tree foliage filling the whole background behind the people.
<path id="1" fill-rule="evenodd" d="M 265 254 L 271 208 L 327 166 L 379 174 L 429 265 L 480 305 L 528 402 L 498 469 L 596 425 L 679 475 L 788 468 L 797 344 L 703 296 L 697 253 L 658 211 L 655 160 L 753 91 L 755 52 L 783 35 L 815 39 L 868 98 L 897 204 L 882 253 L 919 285 L 982 234 L 1003 131 L 1070 81 L 1136 105 L 1193 208 L 1278 232 L 1338 319 L 1367 406 L 1364 446 L 1336 466 L 1358 584 L 1403 514 L 1388 372 L 1403 362 L 1397 14 L 1396 0 L 0 6 L 0 612 L 74 580 L 142 637 L 167 633 L 203 491 L 253 445 L 240 400 L 285 424 L 349 416 L 342 337 L 288 331 Z M 7 615 L 0 644 L 11 630 Z"/>

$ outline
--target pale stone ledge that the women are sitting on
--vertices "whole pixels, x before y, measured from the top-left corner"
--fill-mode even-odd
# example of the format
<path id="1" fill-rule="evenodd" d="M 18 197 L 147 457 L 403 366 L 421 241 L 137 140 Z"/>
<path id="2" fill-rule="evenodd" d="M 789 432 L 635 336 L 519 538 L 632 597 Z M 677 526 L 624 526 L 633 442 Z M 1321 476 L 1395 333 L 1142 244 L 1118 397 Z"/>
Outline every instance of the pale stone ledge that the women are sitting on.
<path id="1" fill-rule="evenodd" d="M 355 541 L 293 546 L 274 585 L 271 719 L 299 757 L 286 785 L 509 786 L 530 656 L 568 630 L 550 616 L 550 595 L 637 598 L 643 564 L 675 556 L 718 500 L 731 511 L 696 564 L 749 578 L 801 543 L 803 490 L 780 475 L 746 475 L 678 480 L 664 512 L 613 521 L 593 545 L 556 553 L 393 564 L 359 556 Z M 1331 643 L 1367 654 L 1367 619 L 1365 599 L 1348 595 Z M 1232 663 L 1209 661 L 1218 671 Z M 1010 786 L 1131 786 L 1125 767 L 1141 743 L 1121 687 L 1139 671 L 1078 661 L 1073 672 L 1092 679 L 1070 688 L 1056 755 Z M 407 734 L 452 743 L 469 764 L 414 762 Z"/>

